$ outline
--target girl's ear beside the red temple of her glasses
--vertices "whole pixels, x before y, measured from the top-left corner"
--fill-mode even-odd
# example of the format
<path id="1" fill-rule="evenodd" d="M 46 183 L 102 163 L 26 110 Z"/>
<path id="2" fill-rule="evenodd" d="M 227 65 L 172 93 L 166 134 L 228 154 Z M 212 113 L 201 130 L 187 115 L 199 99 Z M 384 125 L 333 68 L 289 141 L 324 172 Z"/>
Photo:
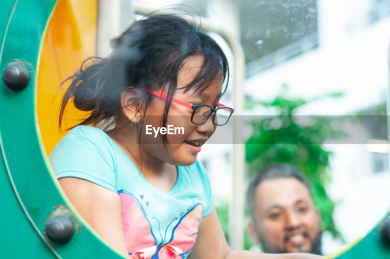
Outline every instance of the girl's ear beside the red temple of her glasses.
<path id="1" fill-rule="evenodd" d="M 134 123 L 141 121 L 141 105 L 136 91 L 122 92 L 121 107 L 123 114 Z"/>

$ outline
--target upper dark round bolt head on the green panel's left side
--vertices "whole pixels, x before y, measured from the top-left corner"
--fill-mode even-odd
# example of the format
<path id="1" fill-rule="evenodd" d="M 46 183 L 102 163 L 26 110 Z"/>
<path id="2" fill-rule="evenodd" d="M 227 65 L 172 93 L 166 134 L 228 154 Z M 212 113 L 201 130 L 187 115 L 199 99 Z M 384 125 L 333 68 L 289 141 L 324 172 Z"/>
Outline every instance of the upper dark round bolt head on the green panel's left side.
<path id="1" fill-rule="evenodd" d="M 30 71 L 23 64 L 9 65 L 4 69 L 3 81 L 9 89 L 14 91 L 23 90 L 30 81 Z"/>

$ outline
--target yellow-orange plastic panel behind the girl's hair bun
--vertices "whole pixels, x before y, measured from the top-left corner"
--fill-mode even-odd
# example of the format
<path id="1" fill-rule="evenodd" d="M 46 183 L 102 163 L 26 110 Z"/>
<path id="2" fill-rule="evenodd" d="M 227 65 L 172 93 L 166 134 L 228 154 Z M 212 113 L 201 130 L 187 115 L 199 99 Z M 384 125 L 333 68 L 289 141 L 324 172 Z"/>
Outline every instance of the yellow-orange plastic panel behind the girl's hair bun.
<path id="1" fill-rule="evenodd" d="M 37 117 L 46 154 L 87 115 L 70 101 L 58 128 L 60 103 L 67 85 L 58 85 L 78 69 L 84 59 L 96 55 L 97 0 L 58 0 L 46 30 L 37 75 Z"/>

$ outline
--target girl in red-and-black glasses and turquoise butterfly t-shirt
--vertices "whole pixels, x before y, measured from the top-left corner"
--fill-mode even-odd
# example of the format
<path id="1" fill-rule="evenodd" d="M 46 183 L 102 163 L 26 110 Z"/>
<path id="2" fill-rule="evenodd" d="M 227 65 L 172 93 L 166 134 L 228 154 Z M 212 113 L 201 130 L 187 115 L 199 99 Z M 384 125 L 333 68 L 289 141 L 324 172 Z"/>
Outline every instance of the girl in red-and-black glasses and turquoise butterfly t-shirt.
<path id="1" fill-rule="evenodd" d="M 219 103 L 228 78 L 211 37 L 179 15 L 155 14 L 115 39 L 110 57 L 87 59 L 67 79 L 60 127 L 71 99 L 91 113 L 50 161 L 75 208 L 112 247 L 131 258 L 317 257 L 227 245 L 196 158 L 234 111 Z"/>

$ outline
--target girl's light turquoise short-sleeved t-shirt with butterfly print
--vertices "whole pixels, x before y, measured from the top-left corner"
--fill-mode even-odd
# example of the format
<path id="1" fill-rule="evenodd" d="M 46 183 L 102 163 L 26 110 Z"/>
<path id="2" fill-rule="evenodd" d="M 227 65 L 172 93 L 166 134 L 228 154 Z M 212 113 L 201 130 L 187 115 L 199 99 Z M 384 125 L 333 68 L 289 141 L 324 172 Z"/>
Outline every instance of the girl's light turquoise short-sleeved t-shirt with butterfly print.
<path id="1" fill-rule="evenodd" d="M 198 161 L 178 166 L 176 184 L 162 192 L 104 131 L 91 126 L 69 131 L 49 159 L 57 178 L 78 177 L 118 193 L 129 255 L 145 250 L 145 258 L 186 258 L 201 218 L 214 206 L 207 172 Z"/>

